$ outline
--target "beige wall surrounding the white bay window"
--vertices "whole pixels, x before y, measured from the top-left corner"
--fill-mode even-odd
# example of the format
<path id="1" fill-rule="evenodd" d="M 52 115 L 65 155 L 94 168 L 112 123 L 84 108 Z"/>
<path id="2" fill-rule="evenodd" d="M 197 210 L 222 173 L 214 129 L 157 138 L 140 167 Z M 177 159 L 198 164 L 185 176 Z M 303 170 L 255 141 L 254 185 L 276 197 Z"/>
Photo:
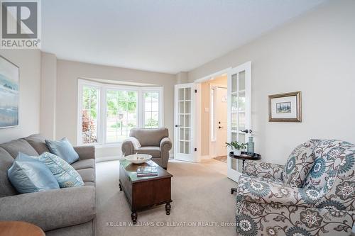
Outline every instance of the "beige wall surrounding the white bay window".
<path id="1" fill-rule="evenodd" d="M 78 78 L 109 79 L 123 82 L 141 82 L 163 86 L 164 126 L 173 140 L 175 74 L 146 72 L 136 69 L 107 67 L 97 64 L 58 60 L 56 137 L 68 137 L 77 143 L 77 80 Z M 116 149 L 121 152 L 121 149 Z M 101 153 L 101 152 L 100 152 Z M 119 155 L 120 153 L 102 153 Z"/>

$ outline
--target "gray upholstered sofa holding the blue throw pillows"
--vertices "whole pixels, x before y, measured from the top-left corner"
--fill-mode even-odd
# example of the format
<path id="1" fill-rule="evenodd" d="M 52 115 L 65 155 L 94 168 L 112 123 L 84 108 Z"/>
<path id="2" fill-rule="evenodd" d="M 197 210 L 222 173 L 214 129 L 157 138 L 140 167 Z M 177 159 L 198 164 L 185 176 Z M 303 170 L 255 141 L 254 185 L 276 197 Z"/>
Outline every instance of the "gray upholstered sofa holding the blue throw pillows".
<path id="1" fill-rule="evenodd" d="M 0 145 L 0 220 L 21 220 L 38 225 L 51 235 L 94 235 L 95 149 L 74 147 L 80 160 L 73 163 L 85 186 L 18 194 L 11 185 L 7 170 L 18 152 L 38 156 L 49 152 L 41 135 L 13 140 Z"/>

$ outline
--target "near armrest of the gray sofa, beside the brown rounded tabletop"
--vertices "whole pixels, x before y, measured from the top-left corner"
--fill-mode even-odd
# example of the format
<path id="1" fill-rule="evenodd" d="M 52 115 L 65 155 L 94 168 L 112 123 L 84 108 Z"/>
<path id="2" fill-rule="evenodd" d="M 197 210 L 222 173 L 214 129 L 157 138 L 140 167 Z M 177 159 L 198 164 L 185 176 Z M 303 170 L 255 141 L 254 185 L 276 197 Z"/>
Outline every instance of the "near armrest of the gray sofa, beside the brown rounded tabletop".
<path id="1" fill-rule="evenodd" d="M 96 214 L 94 186 L 0 198 L 0 220 L 33 223 L 44 231 L 89 222 Z"/>

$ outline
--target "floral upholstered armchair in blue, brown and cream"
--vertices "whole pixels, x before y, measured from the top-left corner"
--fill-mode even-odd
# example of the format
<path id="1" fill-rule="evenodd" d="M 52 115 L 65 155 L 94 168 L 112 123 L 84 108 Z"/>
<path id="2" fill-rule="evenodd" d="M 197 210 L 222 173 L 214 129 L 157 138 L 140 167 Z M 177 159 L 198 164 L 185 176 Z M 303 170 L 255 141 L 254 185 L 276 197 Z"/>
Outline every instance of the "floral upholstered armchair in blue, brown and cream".
<path id="1" fill-rule="evenodd" d="M 355 145 L 310 140 L 285 167 L 246 161 L 236 195 L 239 235 L 350 235 L 355 220 Z"/>

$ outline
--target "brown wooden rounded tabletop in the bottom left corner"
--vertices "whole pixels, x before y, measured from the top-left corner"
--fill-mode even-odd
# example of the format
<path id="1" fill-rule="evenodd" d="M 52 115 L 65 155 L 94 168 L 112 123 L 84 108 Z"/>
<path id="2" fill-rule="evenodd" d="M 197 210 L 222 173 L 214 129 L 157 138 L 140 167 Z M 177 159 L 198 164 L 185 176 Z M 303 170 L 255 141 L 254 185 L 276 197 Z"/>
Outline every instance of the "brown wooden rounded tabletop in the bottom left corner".
<path id="1" fill-rule="evenodd" d="M 23 221 L 0 221 L 0 236 L 45 236 L 40 227 Z"/>

